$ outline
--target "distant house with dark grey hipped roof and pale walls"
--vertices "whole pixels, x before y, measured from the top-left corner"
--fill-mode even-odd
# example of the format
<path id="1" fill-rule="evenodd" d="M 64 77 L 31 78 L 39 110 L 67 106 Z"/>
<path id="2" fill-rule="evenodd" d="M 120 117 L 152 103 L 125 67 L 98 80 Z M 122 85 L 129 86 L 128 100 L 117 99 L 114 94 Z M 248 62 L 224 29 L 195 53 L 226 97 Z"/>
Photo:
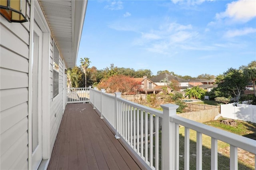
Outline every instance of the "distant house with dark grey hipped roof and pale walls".
<path id="1" fill-rule="evenodd" d="M 162 73 L 151 78 L 151 81 L 153 81 L 157 85 L 169 85 L 173 80 L 178 81 L 180 91 L 184 91 L 189 87 L 187 80 L 181 79 L 179 77 L 176 77 L 175 75 L 168 73 Z"/>

